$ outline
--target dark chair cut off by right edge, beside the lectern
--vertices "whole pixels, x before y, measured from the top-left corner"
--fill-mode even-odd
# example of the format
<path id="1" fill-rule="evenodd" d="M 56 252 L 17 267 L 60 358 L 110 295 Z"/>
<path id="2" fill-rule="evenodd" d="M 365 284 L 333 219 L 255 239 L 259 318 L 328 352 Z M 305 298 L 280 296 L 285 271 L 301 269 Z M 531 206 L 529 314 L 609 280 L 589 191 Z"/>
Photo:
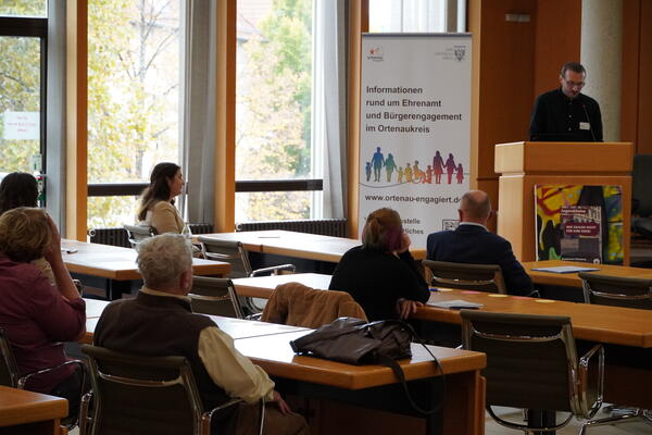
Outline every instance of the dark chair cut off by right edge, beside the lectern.
<path id="1" fill-rule="evenodd" d="M 631 229 L 641 236 L 652 239 L 652 154 L 634 157 L 631 172 L 632 213 Z"/>

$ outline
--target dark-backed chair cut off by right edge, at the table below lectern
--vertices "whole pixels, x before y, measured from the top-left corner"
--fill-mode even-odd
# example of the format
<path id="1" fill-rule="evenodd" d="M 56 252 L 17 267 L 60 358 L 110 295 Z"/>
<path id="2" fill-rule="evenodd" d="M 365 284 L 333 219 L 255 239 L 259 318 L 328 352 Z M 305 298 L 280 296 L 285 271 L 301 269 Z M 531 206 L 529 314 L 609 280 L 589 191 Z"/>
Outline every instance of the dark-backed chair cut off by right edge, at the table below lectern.
<path id="1" fill-rule="evenodd" d="M 581 272 L 578 276 L 581 278 L 586 303 L 652 310 L 652 279 L 609 276 L 588 272 Z M 642 419 L 648 423 L 652 423 L 652 412 L 650 410 L 628 408 L 626 403 L 611 408 L 612 410 L 618 409 L 619 414 L 595 420 L 590 425 L 615 424 L 631 419 Z"/>

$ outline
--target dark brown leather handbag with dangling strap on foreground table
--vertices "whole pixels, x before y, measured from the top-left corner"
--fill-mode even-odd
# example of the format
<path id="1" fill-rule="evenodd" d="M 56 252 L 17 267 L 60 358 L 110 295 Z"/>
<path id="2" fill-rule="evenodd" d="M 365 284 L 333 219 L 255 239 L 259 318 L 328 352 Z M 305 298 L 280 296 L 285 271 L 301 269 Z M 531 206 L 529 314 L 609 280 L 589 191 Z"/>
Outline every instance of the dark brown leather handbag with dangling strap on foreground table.
<path id="1" fill-rule="evenodd" d="M 400 320 L 381 320 L 366 323 L 361 319 L 339 318 L 303 337 L 290 341 L 290 346 L 296 353 L 308 353 L 313 357 L 349 364 L 381 364 L 389 366 L 401 382 L 412 407 L 421 413 L 431 414 L 441 409 L 443 400 L 440 400 L 434 409 L 429 410 L 417 406 L 405 384 L 403 369 L 396 362 L 396 360 L 412 357 L 410 347 L 415 338 L 416 334 L 412 326 Z M 443 370 L 430 349 L 425 345 L 424 348 L 430 353 L 432 361 L 442 374 L 442 397 L 444 397 Z"/>

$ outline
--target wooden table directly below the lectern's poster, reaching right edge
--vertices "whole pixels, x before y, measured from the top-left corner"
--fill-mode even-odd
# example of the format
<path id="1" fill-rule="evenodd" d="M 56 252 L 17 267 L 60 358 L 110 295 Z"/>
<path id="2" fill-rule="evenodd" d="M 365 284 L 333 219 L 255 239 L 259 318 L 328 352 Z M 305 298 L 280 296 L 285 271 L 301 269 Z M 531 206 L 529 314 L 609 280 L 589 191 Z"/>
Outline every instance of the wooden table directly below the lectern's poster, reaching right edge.
<path id="1" fill-rule="evenodd" d="M 581 288 L 581 279 L 577 276 L 577 273 L 551 273 L 551 272 L 539 272 L 532 271 L 538 268 L 555 268 L 560 265 L 575 265 L 579 268 L 595 268 L 599 273 L 603 275 L 612 276 L 624 276 L 629 278 L 652 278 L 652 269 L 642 268 L 630 268 L 625 265 L 613 265 L 613 264 L 589 264 L 580 263 L 576 261 L 563 261 L 563 260 L 546 260 L 546 261 L 528 261 L 523 263 L 525 271 L 532 278 L 536 284 L 546 285 L 559 285 L 565 287 L 579 287 Z"/>

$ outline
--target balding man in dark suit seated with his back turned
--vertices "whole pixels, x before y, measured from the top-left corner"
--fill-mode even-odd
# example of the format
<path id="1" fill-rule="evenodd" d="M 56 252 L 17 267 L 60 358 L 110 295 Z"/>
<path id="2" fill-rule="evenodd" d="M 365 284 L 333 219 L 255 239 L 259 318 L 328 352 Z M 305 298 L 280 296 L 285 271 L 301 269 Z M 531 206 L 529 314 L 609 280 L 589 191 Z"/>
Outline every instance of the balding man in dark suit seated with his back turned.
<path id="1" fill-rule="evenodd" d="M 482 190 L 469 190 L 462 197 L 460 226 L 428 236 L 428 260 L 453 263 L 498 264 L 510 295 L 529 295 L 532 281 L 512 252 L 512 245 L 487 229 L 491 201 Z"/>

